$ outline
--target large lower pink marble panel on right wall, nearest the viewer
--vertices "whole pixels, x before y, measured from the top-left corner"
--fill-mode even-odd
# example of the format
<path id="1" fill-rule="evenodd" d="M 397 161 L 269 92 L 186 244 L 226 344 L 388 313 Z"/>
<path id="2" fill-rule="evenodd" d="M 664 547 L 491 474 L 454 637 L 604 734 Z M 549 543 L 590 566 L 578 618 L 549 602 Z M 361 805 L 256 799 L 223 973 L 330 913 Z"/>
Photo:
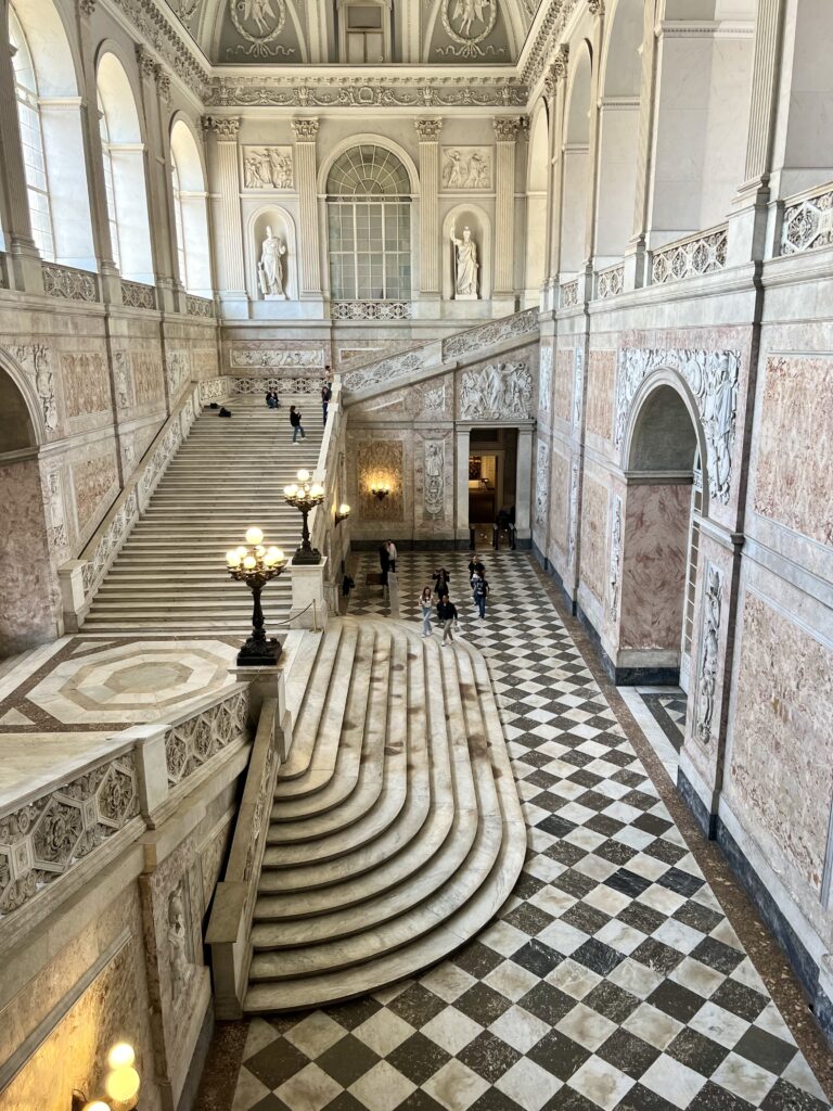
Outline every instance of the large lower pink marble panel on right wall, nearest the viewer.
<path id="1" fill-rule="evenodd" d="M 742 621 L 731 790 L 817 891 L 833 800 L 833 652 L 755 594 Z"/>

